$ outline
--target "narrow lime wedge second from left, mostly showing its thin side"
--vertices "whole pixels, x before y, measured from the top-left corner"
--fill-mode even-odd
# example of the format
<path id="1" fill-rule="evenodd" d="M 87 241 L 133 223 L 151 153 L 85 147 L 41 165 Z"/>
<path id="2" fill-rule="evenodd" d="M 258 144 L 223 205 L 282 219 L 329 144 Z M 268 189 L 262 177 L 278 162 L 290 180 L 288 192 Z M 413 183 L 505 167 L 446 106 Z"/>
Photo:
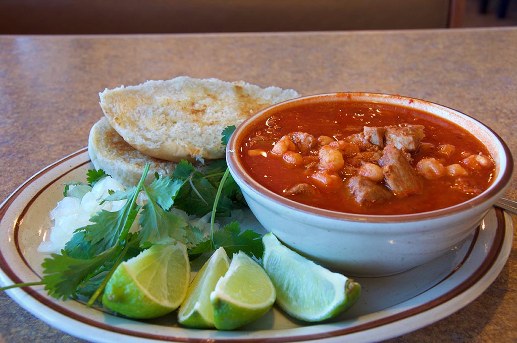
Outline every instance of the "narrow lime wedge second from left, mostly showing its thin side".
<path id="1" fill-rule="evenodd" d="M 190 328 L 215 328 L 210 293 L 228 270 L 230 261 L 223 247 L 218 248 L 196 274 L 178 312 L 178 322 Z"/>

